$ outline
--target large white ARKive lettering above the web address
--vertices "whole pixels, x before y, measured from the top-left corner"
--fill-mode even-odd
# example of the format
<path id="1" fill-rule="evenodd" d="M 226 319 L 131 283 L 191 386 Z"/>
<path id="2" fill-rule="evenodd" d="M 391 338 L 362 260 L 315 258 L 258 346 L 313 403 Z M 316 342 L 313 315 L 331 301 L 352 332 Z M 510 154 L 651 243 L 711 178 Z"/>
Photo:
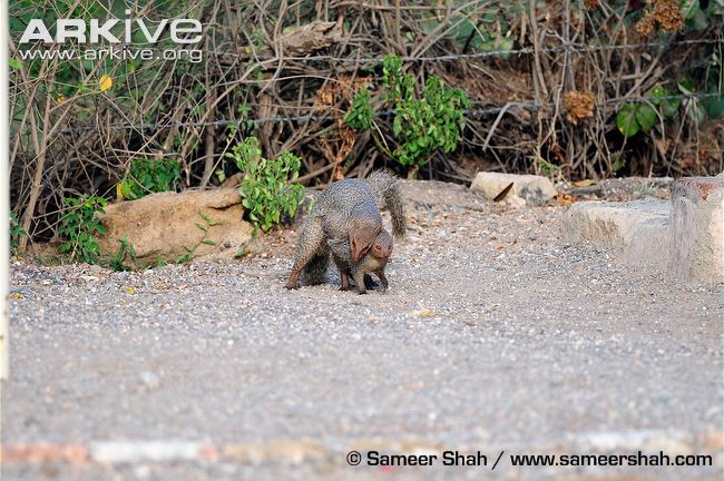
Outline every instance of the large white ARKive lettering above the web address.
<path id="1" fill-rule="evenodd" d="M 130 10 L 126 10 L 126 14 L 129 18 L 125 20 L 108 19 L 102 23 L 98 19 L 90 19 L 88 22 L 82 19 L 58 19 L 55 39 L 42 19 L 31 19 L 22 32 L 19 43 L 33 41 L 65 43 L 67 40 L 76 40 L 78 43 L 100 43 L 101 41 L 111 45 L 130 43 L 135 29 L 141 32 L 148 43 L 158 42 L 167 29 L 175 43 L 197 43 L 202 39 L 202 22 L 195 19 L 163 19 L 159 22 L 147 22 L 144 19 L 131 19 Z M 120 27 L 123 30 L 117 33 Z M 117 35 L 120 35 L 121 38 Z"/>

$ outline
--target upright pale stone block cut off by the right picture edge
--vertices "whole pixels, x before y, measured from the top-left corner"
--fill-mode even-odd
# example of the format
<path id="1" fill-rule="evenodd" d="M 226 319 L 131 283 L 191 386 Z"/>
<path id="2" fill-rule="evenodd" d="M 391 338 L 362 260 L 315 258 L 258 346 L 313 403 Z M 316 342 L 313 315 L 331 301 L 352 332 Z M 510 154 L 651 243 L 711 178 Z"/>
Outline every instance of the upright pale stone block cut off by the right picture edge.
<path id="1" fill-rule="evenodd" d="M 722 282 L 724 178 L 688 177 L 672 188 L 672 268 L 682 278 Z"/>

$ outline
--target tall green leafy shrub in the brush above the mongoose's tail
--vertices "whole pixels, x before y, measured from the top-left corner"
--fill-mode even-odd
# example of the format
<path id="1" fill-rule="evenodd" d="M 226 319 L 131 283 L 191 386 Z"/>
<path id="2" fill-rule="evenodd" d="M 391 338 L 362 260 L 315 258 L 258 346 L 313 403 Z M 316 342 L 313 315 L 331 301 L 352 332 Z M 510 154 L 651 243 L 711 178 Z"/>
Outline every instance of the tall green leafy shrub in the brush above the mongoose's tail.
<path id="1" fill-rule="evenodd" d="M 388 99 L 394 101 L 397 116 L 392 131 L 400 140 L 393 156 L 403 166 L 422 166 L 436 150 L 451 153 L 458 147 L 466 126 L 464 112 L 470 107 L 466 94 L 448 88 L 444 80 L 431 76 L 422 98 L 415 98 L 414 79 L 401 73 L 402 61 L 385 56 L 382 65 Z"/>

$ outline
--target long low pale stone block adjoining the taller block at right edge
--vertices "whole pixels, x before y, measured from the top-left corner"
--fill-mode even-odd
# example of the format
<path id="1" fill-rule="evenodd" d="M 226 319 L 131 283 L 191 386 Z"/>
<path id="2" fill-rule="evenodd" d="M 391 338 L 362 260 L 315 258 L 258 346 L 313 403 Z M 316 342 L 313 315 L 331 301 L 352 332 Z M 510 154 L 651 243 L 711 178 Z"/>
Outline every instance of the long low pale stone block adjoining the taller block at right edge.
<path id="1" fill-rule="evenodd" d="M 587 240 L 626 261 L 666 268 L 669 214 L 666 200 L 581 202 L 564 215 L 560 233 L 564 242 Z"/>

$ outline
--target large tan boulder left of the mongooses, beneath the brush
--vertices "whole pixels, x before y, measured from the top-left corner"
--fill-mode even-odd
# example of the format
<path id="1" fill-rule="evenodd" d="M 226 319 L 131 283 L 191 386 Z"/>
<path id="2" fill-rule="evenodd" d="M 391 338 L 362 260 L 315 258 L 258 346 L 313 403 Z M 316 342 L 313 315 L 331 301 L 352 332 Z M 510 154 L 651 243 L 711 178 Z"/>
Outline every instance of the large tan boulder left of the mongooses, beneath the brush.
<path id="1" fill-rule="evenodd" d="M 98 242 L 101 255 L 118 252 L 128 237 L 138 266 L 163 259 L 232 258 L 251 239 L 252 226 L 236 189 L 151 194 L 106 207 L 100 215 L 106 234 Z M 204 218 L 206 217 L 206 218 Z M 209 225 L 211 223 L 211 225 Z"/>

